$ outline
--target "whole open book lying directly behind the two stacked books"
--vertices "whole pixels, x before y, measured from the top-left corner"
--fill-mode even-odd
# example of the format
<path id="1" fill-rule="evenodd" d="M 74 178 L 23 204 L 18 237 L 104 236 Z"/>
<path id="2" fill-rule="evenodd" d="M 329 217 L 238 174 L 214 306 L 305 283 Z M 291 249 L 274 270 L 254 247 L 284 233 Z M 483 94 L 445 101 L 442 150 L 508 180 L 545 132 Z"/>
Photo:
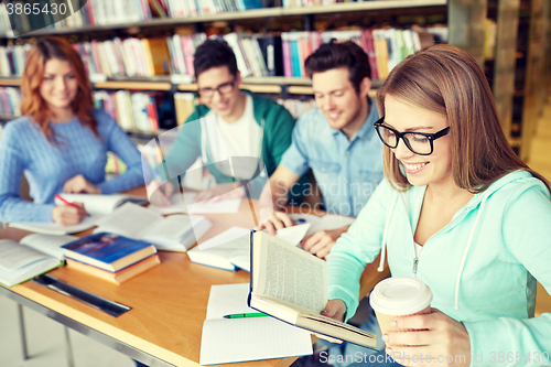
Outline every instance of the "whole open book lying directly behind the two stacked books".
<path id="1" fill-rule="evenodd" d="M 154 244 L 159 250 L 186 251 L 212 223 L 202 216 L 163 217 L 143 206 L 126 203 L 98 220 L 94 233 L 107 231 Z"/>

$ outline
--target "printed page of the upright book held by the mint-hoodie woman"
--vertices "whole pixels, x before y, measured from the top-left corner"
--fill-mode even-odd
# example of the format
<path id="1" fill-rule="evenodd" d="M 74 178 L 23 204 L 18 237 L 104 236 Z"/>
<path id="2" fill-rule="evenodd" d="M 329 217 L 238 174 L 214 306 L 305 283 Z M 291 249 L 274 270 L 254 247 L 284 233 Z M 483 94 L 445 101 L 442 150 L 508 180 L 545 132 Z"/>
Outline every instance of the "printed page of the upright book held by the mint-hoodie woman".
<path id="1" fill-rule="evenodd" d="M 327 303 L 324 260 L 263 233 L 255 234 L 253 256 L 253 295 L 306 313 L 323 311 Z"/>

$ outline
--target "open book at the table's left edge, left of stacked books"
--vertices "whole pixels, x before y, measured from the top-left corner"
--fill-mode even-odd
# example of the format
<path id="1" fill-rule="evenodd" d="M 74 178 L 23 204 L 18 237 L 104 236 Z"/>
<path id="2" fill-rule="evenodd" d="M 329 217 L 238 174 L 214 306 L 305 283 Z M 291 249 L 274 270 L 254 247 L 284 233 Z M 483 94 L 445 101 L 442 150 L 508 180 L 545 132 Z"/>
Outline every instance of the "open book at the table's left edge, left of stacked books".
<path id="1" fill-rule="evenodd" d="M 0 239 L 0 283 L 12 287 L 63 263 L 61 246 L 74 236 L 29 235 L 15 242 Z"/>

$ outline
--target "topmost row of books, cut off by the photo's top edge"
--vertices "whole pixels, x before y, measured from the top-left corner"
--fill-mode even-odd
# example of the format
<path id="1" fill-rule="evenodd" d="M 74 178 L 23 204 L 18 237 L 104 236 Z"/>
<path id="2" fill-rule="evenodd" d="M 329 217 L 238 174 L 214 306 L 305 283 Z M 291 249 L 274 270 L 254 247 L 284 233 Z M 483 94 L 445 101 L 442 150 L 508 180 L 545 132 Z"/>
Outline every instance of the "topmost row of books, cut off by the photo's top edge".
<path id="1" fill-rule="evenodd" d="M 47 0 L 46 0 L 47 1 Z M 197 15 L 210 15 L 224 12 L 238 12 L 261 8 L 300 8 L 327 6 L 343 2 L 342 0 L 88 0 L 80 1 L 83 7 L 74 9 L 74 13 L 62 8 L 60 11 L 41 11 L 40 23 L 51 24 L 53 29 L 80 28 L 87 25 L 125 24 L 131 22 L 143 22 L 155 18 L 190 18 Z M 361 2 L 361 0 L 358 0 Z M 50 0 L 50 3 L 56 3 Z M 77 2 L 73 2 L 77 4 Z M 10 12 L 11 13 L 11 12 Z M 10 31 L 17 33 L 36 30 L 25 11 L 17 17 L 10 14 L 3 2 L 0 3 L 0 34 Z M 35 15 L 32 15 L 35 17 Z M 11 21 L 11 22 L 10 22 Z"/>

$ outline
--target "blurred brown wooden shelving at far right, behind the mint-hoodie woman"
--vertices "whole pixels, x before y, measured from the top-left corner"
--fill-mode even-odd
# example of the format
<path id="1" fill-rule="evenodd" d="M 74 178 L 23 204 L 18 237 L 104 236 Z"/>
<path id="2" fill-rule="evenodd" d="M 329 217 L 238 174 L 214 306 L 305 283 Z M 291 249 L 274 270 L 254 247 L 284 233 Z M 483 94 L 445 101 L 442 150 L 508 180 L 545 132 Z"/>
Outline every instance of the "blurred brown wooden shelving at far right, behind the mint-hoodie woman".
<path id="1" fill-rule="evenodd" d="M 496 107 L 509 143 L 526 161 L 550 82 L 551 2 L 491 0 L 489 9 L 497 19 L 490 80 Z"/>

